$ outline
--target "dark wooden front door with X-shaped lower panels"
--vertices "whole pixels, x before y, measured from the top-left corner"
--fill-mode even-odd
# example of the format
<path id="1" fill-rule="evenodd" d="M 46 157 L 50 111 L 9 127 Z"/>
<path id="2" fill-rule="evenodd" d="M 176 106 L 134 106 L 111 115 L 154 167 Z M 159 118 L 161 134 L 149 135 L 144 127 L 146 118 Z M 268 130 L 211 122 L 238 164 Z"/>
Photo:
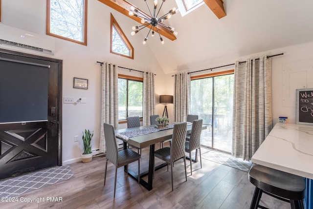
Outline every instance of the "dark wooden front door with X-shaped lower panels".
<path id="1" fill-rule="evenodd" d="M 62 61 L 0 49 L 0 179 L 62 165 Z"/>

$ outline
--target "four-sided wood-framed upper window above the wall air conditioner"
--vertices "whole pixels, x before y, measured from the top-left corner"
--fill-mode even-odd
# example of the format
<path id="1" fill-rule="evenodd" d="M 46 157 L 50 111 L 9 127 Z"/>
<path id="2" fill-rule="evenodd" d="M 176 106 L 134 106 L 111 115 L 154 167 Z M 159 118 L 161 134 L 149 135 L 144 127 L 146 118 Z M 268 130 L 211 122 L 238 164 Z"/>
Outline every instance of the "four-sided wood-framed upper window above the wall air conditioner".
<path id="1" fill-rule="evenodd" d="M 46 34 L 87 45 L 87 0 L 47 0 Z"/>

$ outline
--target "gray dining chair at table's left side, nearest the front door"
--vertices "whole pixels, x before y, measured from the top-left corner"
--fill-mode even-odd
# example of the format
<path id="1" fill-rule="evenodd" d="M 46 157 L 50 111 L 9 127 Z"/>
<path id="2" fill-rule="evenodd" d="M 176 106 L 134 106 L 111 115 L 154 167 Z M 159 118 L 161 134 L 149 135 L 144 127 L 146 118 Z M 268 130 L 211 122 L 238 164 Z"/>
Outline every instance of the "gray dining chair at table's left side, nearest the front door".
<path id="1" fill-rule="evenodd" d="M 115 178 L 114 178 L 114 197 L 115 197 L 115 188 L 116 188 L 116 174 L 117 168 L 122 166 L 127 166 L 128 164 L 138 161 L 138 183 L 140 178 L 140 155 L 137 152 L 134 152 L 132 149 L 122 149 L 118 151 L 117 144 L 115 141 L 114 127 L 110 124 L 104 123 L 104 137 L 107 146 L 106 154 L 106 170 L 104 172 L 104 185 L 106 185 L 106 176 L 108 161 L 110 161 L 115 166 Z"/>

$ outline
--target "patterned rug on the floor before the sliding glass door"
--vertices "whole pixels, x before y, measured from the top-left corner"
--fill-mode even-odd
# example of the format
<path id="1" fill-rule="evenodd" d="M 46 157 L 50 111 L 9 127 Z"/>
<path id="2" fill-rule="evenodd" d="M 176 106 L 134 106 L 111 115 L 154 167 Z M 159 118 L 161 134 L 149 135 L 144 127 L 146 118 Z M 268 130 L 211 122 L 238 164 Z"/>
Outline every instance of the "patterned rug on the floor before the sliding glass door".
<path id="1" fill-rule="evenodd" d="M 252 165 L 252 162 L 250 161 L 244 161 L 242 159 L 235 158 L 231 155 L 213 150 L 203 154 L 202 158 L 219 164 L 223 164 L 225 166 L 234 167 L 246 172 L 250 170 L 250 167 Z"/>

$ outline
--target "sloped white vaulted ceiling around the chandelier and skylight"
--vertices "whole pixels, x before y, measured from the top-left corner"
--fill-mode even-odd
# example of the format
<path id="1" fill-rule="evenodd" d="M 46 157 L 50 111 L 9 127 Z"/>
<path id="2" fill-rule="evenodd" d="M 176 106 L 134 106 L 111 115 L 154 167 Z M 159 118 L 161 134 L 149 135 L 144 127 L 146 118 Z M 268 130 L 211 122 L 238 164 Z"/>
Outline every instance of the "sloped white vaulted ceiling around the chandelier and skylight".
<path id="1" fill-rule="evenodd" d="M 128 1 L 148 12 L 144 0 Z M 163 12 L 173 7 L 177 7 L 175 0 L 167 0 Z M 155 36 L 146 44 L 165 73 L 192 69 L 195 63 L 312 42 L 312 8 L 310 0 L 224 0 L 226 16 L 218 19 L 203 4 L 184 17 L 175 14 L 165 22 L 178 31 L 177 40 L 164 38 L 162 45 Z M 136 35 L 144 39 L 147 33 L 148 29 L 143 29 Z"/>

